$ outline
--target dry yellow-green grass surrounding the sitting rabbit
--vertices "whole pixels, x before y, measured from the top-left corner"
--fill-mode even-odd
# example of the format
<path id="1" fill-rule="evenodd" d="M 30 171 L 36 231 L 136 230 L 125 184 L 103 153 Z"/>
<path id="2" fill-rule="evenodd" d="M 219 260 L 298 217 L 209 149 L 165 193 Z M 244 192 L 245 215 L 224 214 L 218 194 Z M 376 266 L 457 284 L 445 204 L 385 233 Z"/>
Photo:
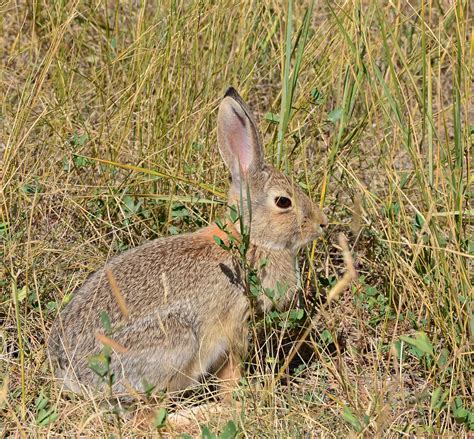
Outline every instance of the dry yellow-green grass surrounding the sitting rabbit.
<path id="1" fill-rule="evenodd" d="M 320 200 L 331 224 L 301 258 L 303 311 L 260 324 L 242 413 L 211 416 L 206 428 L 472 432 L 469 2 L 0 8 L 2 436 L 150 435 L 140 421 L 150 408 L 160 434 L 171 431 L 159 411 L 168 400 L 112 415 L 97 397 L 66 395 L 45 340 L 110 255 L 223 212 L 215 110 L 229 85 L 255 110 L 268 159 Z M 345 270 L 341 232 L 358 278 L 327 303 Z"/>

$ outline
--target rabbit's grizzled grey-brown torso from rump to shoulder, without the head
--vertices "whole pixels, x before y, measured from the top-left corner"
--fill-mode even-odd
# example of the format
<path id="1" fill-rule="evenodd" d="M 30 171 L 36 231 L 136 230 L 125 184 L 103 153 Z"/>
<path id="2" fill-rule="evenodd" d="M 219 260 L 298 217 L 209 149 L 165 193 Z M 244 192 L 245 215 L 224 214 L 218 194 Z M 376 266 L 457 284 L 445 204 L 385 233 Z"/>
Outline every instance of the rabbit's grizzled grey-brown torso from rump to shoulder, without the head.
<path id="1" fill-rule="evenodd" d="M 114 298 L 107 270 L 128 317 Z M 209 228 L 131 249 L 86 280 L 50 337 L 49 351 L 62 378 L 69 368 L 79 381 L 95 380 L 87 361 L 101 348 L 96 334 L 104 331 L 103 311 L 111 321 L 110 338 L 127 350 L 116 354 L 115 363 L 136 388 L 143 379 L 159 387 L 184 388 L 212 367 L 229 344 L 245 343 L 248 301 L 239 264 L 216 245 Z M 180 376 L 173 376 L 176 370 Z"/>

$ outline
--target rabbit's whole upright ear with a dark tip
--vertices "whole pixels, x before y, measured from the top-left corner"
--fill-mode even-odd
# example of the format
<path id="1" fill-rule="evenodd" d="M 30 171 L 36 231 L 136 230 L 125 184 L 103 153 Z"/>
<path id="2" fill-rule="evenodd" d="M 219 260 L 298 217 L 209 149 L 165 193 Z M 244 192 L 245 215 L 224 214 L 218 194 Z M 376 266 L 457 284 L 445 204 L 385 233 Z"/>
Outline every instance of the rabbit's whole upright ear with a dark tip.
<path id="1" fill-rule="evenodd" d="M 239 96 L 230 87 L 217 115 L 217 139 L 222 159 L 229 168 L 233 181 L 239 181 L 251 171 L 262 169 L 263 148 L 255 119 Z"/>

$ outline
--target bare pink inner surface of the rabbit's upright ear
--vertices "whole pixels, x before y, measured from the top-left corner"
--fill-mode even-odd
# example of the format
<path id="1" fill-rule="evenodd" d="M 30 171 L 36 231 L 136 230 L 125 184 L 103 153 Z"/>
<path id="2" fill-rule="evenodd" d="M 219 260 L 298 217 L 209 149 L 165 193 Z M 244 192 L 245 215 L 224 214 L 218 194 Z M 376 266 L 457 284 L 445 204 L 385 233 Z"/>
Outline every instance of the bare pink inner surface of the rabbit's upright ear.
<path id="1" fill-rule="evenodd" d="M 239 163 L 244 174 L 248 173 L 252 163 L 252 138 L 247 128 L 242 125 L 240 116 L 232 115 L 228 121 L 227 138 L 228 144 L 233 154 L 232 171 L 239 174 Z M 244 122 L 245 123 L 245 122 Z"/>

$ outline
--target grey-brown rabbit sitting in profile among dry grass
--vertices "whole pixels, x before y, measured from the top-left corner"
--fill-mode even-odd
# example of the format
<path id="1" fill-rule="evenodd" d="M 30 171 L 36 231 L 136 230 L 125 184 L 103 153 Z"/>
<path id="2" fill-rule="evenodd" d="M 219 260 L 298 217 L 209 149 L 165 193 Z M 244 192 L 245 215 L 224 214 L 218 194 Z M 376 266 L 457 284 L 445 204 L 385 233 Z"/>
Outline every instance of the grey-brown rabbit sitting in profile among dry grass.
<path id="1" fill-rule="evenodd" d="M 255 264 L 267 261 L 260 274 L 265 288 L 289 287 L 277 304 L 284 308 L 295 291 L 297 252 L 321 232 L 326 217 L 288 177 L 264 162 L 255 120 L 233 88 L 220 104 L 217 124 L 219 149 L 232 176 L 229 205 L 238 205 L 242 193 L 247 206 L 249 188 L 248 258 Z M 247 208 L 240 215 L 248 224 Z M 96 338 L 103 330 L 101 311 L 110 317 L 110 338 L 127 349 L 112 354 L 115 392 L 130 386 L 142 391 L 144 383 L 184 389 L 215 371 L 235 384 L 246 353 L 250 304 L 239 260 L 213 238 L 222 233 L 213 224 L 157 239 L 112 258 L 92 274 L 58 316 L 49 339 L 50 356 L 65 386 L 79 391 L 79 384 L 101 385 L 88 367 L 90 356 L 102 348 Z M 106 270 L 116 279 L 128 317 L 113 297 Z M 261 310 L 271 306 L 262 296 Z"/>

